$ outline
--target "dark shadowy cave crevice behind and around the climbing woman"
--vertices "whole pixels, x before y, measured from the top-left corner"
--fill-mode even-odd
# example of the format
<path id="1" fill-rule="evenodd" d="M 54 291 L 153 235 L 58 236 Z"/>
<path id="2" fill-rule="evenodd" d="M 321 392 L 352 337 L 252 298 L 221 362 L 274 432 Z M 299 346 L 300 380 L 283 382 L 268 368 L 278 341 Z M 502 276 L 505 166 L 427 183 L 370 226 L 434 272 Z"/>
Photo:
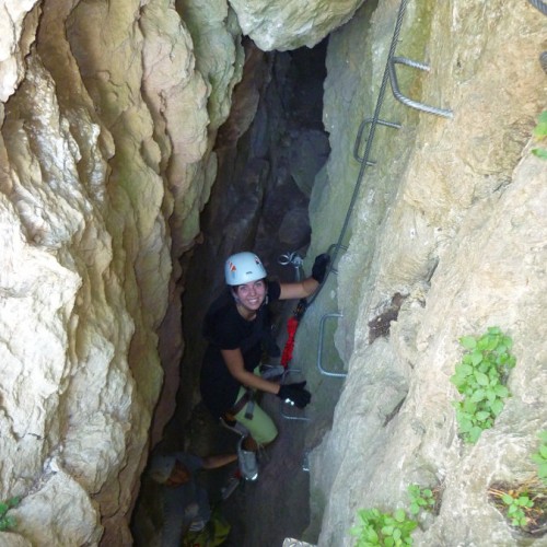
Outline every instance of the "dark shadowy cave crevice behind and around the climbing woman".
<path id="1" fill-rule="evenodd" d="M 218 174 L 201 214 L 201 243 L 182 259 L 185 348 L 177 407 L 154 453 L 207 456 L 235 450 L 237 437 L 220 427 L 200 403 L 201 322 L 223 288 L 222 266 L 230 254 L 255 252 L 268 277 L 280 281 L 293 280 L 294 270 L 281 266 L 278 257 L 288 252 L 305 256 L 313 183 L 329 154 L 322 120 L 327 43 L 312 49 L 264 53 L 251 40 L 244 42 L 244 75 L 234 90 L 231 115 L 217 137 Z M 281 338 L 293 305 L 277 309 Z M 279 437 L 259 458 L 258 480 L 242 481 L 222 501 L 221 487 L 237 464 L 198 475 L 210 503 L 231 524 L 222 545 L 280 546 L 284 537 L 298 537 L 309 524 L 309 477 L 302 465 L 305 426 L 283 420 L 279 401 L 274 399 L 266 395 L 260 403 Z M 144 473 L 131 523 L 136 545 L 161 544 L 161 497 L 162 488 Z"/>

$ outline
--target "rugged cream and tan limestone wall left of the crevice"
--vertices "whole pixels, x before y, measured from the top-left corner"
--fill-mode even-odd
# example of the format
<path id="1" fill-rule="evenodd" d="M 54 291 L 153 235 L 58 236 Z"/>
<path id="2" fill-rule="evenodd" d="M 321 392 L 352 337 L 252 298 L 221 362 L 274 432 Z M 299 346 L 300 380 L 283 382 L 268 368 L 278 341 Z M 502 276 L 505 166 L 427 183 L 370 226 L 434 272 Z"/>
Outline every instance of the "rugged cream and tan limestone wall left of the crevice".
<path id="1" fill-rule="evenodd" d="M 240 31 L 216 2 L 201 73 L 174 2 L 0 13 L 0 499 L 22 498 L 1 542 L 129 545 L 160 352 L 158 431 L 177 385 L 172 264 L 214 177 Z"/>

